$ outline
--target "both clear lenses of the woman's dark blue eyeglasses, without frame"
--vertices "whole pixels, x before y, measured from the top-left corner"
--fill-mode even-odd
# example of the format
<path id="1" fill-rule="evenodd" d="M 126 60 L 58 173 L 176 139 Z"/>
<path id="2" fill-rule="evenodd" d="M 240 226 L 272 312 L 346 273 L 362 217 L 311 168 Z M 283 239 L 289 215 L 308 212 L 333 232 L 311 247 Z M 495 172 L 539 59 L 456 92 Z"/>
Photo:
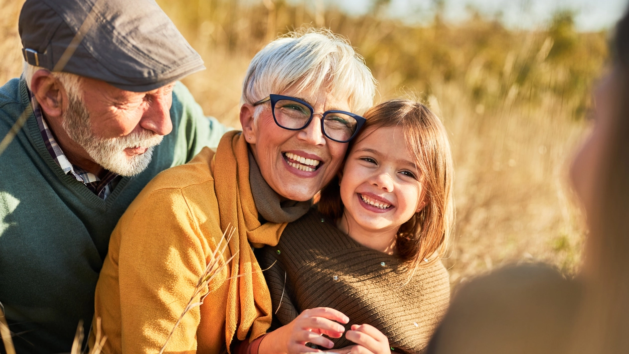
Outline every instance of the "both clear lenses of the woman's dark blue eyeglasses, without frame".
<path id="1" fill-rule="evenodd" d="M 274 108 L 277 124 L 282 128 L 301 129 L 306 127 L 312 115 L 308 106 L 292 100 L 279 100 Z M 356 119 L 343 113 L 327 113 L 323 118 L 323 132 L 330 139 L 345 141 L 356 131 Z"/>

